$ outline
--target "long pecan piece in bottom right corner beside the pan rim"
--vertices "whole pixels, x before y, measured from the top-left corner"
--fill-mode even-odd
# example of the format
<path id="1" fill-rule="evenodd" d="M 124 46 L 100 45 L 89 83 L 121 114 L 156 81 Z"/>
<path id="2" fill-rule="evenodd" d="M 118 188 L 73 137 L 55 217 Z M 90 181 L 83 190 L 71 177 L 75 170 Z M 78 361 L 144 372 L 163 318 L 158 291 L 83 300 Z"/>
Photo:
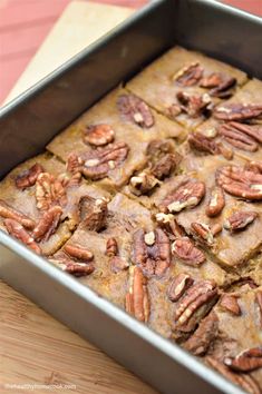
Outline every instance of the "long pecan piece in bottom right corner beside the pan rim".
<path id="1" fill-rule="evenodd" d="M 241 386 L 244 391 L 246 391 L 250 394 L 261 394 L 260 386 L 253 380 L 250 375 L 246 374 L 236 374 L 232 371 L 230 371 L 223 363 L 221 363 L 219 359 L 213 358 L 211 356 L 206 357 L 206 361 L 208 364 L 216 370 L 219 373 L 221 373 L 224 377 L 236 384 L 237 386 Z"/>

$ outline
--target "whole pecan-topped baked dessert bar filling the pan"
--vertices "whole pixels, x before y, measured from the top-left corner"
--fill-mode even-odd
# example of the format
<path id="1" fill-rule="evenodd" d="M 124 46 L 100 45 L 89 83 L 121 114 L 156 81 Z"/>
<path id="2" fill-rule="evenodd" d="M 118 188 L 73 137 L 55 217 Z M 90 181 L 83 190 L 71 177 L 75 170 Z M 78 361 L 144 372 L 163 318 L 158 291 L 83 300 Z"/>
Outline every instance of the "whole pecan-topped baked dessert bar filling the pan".
<path id="1" fill-rule="evenodd" d="M 0 183 L 0 228 L 262 390 L 262 82 L 175 47 Z"/>

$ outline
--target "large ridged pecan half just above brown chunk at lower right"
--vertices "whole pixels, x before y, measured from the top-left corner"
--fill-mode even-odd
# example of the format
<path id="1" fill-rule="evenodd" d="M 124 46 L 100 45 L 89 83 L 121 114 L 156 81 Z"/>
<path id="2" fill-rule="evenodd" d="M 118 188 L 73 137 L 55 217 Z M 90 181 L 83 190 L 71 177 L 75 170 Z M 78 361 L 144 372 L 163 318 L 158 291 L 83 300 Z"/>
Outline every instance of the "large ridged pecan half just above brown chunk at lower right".
<path id="1" fill-rule="evenodd" d="M 195 283 L 176 304 L 175 328 L 185 332 L 193 331 L 196 322 L 191 324 L 192 316 L 202 306 L 205 306 L 205 313 L 207 313 L 216 298 L 217 287 L 214 282 L 200 280 Z"/>

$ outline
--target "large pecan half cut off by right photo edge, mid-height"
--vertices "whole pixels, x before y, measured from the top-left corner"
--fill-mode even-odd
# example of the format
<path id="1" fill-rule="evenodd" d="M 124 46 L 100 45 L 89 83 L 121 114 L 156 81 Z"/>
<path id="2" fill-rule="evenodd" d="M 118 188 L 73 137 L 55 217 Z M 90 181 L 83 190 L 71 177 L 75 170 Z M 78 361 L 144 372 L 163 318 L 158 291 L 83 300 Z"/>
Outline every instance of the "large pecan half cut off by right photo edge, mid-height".
<path id="1" fill-rule="evenodd" d="M 237 166 L 225 166 L 216 171 L 216 183 L 232 196 L 262 199 L 262 175 Z"/>

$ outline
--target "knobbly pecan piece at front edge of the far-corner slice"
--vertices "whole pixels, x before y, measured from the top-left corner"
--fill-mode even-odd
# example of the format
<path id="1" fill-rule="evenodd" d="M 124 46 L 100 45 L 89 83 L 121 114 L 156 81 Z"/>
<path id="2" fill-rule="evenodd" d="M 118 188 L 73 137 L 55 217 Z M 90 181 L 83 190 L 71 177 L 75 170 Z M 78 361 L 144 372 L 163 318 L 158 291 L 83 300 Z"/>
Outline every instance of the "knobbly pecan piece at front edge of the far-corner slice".
<path id="1" fill-rule="evenodd" d="M 212 106 L 211 97 L 207 93 L 192 95 L 185 91 L 178 91 L 176 98 L 181 110 L 192 118 L 197 118 L 201 115 L 207 114 Z"/>

